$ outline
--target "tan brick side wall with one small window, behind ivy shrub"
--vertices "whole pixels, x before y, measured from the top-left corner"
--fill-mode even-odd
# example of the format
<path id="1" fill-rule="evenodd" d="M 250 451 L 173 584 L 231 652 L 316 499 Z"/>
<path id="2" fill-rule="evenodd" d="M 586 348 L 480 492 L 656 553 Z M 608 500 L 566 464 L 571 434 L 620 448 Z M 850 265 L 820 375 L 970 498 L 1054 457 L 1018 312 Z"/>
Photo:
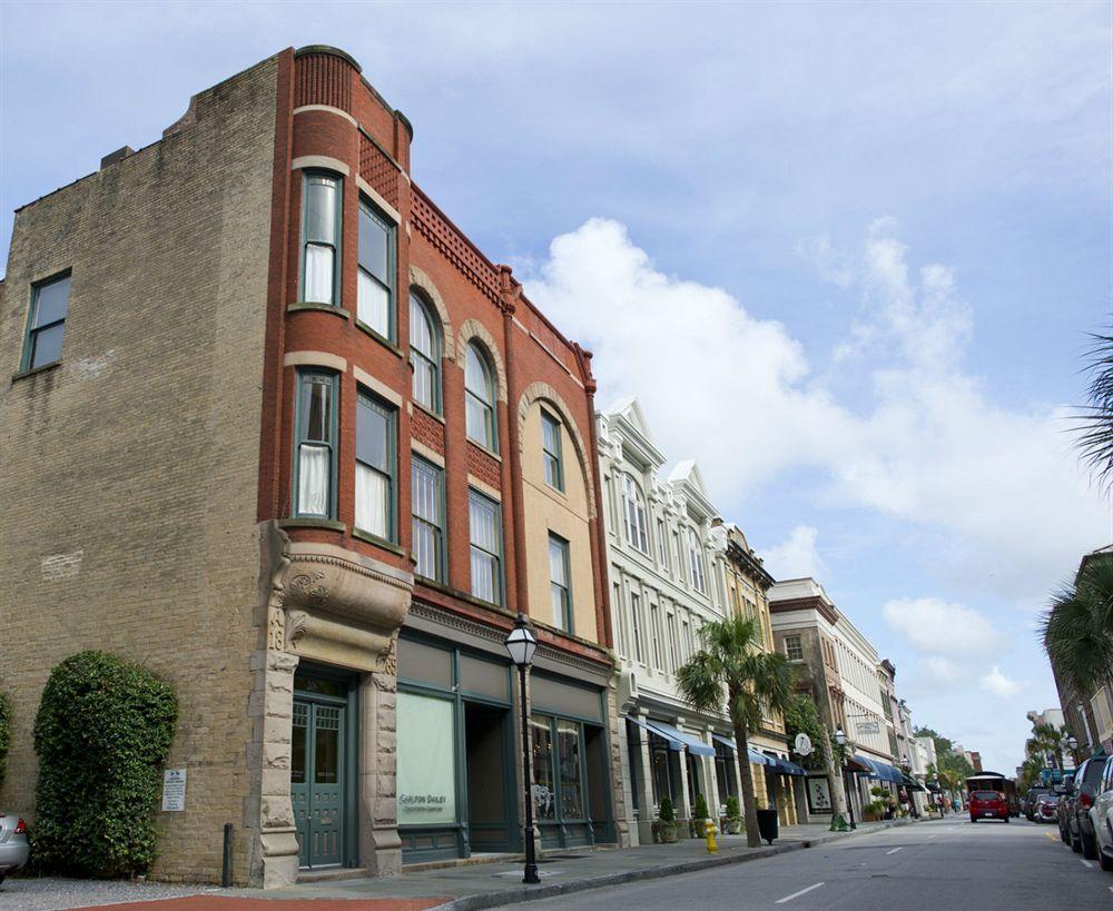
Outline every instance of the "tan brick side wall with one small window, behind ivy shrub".
<path id="1" fill-rule="evenodd" d="M 183 129 L 17 216 L 0 305 L 0 803 L 33 816 L 31 725 L 81 648 L 140 661 L 180 701 L 156 875 L 247 873 L 260 386 L 275 59 L 194 99 Z M 72 269 L 61 366 L 19 369 L 30 283 Z M 256 816 L 257 824 L 257 816 Z"/>

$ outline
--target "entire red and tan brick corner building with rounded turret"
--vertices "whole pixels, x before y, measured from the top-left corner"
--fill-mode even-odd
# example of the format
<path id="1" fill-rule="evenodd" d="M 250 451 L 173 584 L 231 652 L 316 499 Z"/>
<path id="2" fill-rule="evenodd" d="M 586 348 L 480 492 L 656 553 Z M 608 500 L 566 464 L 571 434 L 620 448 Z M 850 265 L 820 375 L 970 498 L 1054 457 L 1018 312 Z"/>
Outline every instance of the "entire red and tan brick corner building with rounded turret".
<path id="1" fill-rule="evenodd" d="M 217 878 L 227 821 L 267 885 L 520 850 L 524 612 L 542 844 L 624 841 L 591 355 L 413 182 L 413 135 L 346 53 L 286 50 L 18 212 L 0 621 L 43 623 L 0 657 L 6 805 L 49 666 L 100 647 L 183 703 L 164 877 Z"/>

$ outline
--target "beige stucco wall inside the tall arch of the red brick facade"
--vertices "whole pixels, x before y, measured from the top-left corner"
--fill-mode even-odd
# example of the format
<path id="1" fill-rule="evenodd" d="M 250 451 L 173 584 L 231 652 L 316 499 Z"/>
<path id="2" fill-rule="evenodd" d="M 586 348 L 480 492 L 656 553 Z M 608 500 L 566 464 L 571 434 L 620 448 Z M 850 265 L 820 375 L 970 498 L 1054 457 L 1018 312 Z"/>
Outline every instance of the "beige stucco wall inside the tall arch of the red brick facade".
<path id="1" fill-rule="evenodd" d="M 587 477 L 563 417 L 555 408 L 549 406 L 546 408 L 549 414 L 561 418 L 562 422 L 564 492 L 555 491 L 545 484 L 544 463 L 541 458 L 541 408 L 540 402 L 534 402 L 530 406 L 522 437 L 522 491 L 525 507 L 525 565 L 530 616 L 541 623 L 550 625 L 553 623 L 549 588 L 549 533 L 554 532 L 569 542 L 573 633 L 580 638 L 598 642 Z"/>

